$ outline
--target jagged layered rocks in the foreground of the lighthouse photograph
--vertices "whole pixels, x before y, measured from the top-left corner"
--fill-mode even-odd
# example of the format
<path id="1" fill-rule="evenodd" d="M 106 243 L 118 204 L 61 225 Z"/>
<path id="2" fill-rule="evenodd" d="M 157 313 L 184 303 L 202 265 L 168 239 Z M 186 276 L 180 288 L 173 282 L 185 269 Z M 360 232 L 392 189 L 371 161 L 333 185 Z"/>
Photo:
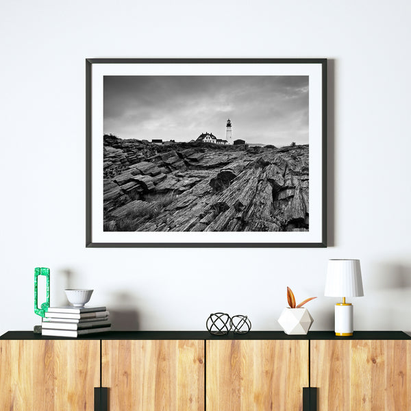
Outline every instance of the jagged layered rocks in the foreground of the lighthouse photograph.
<path id="1" fill-rule="evenodd" d="M 104 230 L 308 231 L 308 154 L 104 136 Z"/>

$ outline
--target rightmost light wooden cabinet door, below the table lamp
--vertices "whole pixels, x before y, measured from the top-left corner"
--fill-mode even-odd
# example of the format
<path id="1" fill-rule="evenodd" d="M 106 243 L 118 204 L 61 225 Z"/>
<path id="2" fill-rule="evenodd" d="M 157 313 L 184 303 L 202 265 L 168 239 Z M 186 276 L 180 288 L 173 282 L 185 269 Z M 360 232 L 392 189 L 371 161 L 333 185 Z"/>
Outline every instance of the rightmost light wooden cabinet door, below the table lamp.
<path id="1" fill-rule="evenodd" d="M 408 340 L 312 340 L 318 411 L 404 411 L 411 404 Z"/>

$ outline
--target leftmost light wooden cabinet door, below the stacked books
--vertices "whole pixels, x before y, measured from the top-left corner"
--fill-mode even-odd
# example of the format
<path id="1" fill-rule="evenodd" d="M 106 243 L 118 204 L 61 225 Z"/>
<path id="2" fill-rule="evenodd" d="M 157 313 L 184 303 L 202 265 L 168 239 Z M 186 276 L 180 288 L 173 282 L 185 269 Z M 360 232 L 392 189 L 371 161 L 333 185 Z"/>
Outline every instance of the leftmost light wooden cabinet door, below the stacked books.
<path id="1" fill-rule="evenodd" d="M 0 340 L 0 410 L 92 411 L 98 340 Z"/>

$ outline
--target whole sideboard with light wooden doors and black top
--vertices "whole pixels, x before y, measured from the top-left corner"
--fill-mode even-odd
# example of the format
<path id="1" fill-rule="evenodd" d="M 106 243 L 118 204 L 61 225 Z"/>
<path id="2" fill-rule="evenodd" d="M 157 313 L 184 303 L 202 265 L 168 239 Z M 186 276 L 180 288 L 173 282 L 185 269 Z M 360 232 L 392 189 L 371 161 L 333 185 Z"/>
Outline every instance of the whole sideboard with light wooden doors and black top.
<path id="1" fill-rule="evenodd" d="M 403 332 L 0 337 L 0 410 L 408 409 L 411 337 Z"/>

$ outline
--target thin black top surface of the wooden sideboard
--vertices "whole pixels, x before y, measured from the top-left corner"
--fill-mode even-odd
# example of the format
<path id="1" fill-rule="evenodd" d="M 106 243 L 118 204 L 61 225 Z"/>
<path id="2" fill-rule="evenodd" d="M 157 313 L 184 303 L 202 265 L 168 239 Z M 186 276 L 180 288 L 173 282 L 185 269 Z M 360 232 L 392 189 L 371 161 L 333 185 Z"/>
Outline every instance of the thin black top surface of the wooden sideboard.
<path id="1" fill-rule="evenodd" d="M 351 337 L 336 337 L 333 331 L 310 331 L 299 336 L 288 336 L 282 331 L 229 332 L 224 336 L 214 336 L 207 331 L 112 331 L 64 338 L 9 331 L 0 336 L 0 340 L 411 340 L 411 336 L 402 331 L 355 331 Z"/>

